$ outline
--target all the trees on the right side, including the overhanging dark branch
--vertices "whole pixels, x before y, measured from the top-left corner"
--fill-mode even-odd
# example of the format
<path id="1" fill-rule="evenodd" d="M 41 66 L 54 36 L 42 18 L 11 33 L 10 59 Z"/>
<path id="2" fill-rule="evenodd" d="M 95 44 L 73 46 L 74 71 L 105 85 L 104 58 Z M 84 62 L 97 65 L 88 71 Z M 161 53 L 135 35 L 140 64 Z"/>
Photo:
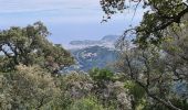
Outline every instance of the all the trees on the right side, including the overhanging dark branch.
<path id="1" fill-rule="evenodd" d="M 147 9 L 140 24 L 126 30 L 119 38 L 123 54 L 118 67 L 155 101 L 169 109 L 185 109 L 171 103 L 175 94 L 171 89 L 179 80 L 187 82 L 188 1 L 101 0 L 101 4 L 106 19 L 126 9 L 135 12 L 140 7 Z M 130 34 L 136 36 L 135 47 L 127 45 L 125 37 Z"/>

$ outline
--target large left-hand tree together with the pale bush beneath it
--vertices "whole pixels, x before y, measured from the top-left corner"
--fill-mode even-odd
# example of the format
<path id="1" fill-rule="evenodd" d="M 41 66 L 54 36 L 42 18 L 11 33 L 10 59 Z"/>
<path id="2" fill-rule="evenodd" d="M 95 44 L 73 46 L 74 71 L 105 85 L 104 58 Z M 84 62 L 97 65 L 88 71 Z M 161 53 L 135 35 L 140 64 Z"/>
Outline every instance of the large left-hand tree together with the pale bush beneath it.
<path id="1" fill-rule="evenodd" d="M 63 108 L 63 89 L 52 76 L 74 61 L 49 35 L 42 22 L 0 31 L 0 109 Z"/>

